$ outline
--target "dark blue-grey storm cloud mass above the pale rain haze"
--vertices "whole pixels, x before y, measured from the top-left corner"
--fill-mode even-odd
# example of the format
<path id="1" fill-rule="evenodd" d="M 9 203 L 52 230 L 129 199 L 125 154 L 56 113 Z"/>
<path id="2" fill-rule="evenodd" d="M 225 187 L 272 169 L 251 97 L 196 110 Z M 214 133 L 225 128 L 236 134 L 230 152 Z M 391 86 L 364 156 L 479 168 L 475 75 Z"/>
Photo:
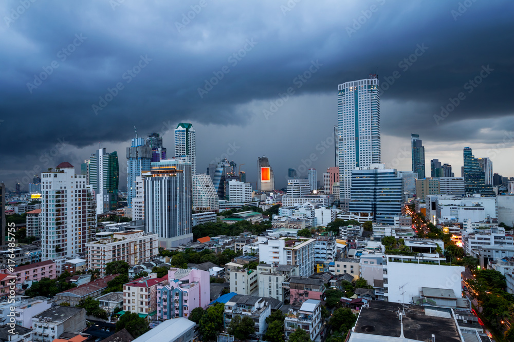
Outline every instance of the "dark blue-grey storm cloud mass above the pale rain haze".
<path id="1" fill-rule="evenodd" d="M 30 169 L 32 159 L 61 137 L 83 148 L 126 142 L 134 125 L 142 132 L 180 120 L 247 127 L 266 109 L 252 110 L 249 103 L 278 98 L 316 61 L 322 66 L 295 95 L 335 95 L 337 84 L 378 71 L 382 100 L 398 104 L 397 111 L 382 111 L 383 134 L 415 131 L 429 140 L 456 141 L 473 133 L 487 142 L 495 132 L 514 129 L 509 1 L 469 1 L 460 9 L 452 1 L 294 7 L 285 1 L 207 1 L 199 10 L 199 1 L 112 3 L 35 2 L 15 20 L 12 9 L 20 2 L 2 4 L 4 175 L 23 175 L 20 170 Z M 183 19 L 188 14 L 194 16 L 189 22 Z M 468 93 L 466 84 L 483 67 L 492 71 Z M 49 70 L 36 85 L 34 74 Z M 216 75 L 223 78 L 200 97 L 198 88 L 209 89 L 206 80 Z M 434 119 L 460 92 L 465 99 L 444 120 Z M 301 109 L 297 114 L 306 115 Z M 487 133 L 477 120 L 485 117 L 496 119 L 486 123 Z M 327 125 L 335 122 L 336 113 Z M 311 140 L 316 146 L 320 137 Z M 16 148 L 8 148 L 13 141 Z"/>

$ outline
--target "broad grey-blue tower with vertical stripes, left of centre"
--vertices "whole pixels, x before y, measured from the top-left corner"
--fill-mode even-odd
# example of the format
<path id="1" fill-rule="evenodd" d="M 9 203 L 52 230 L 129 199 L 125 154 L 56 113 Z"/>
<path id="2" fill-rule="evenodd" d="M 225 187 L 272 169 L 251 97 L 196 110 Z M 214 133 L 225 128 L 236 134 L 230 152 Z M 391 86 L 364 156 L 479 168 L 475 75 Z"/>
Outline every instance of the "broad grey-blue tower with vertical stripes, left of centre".
<path id="1" fill-rule="evenodd" d="M 193 239 L 191 163 L 167 159 L 143 173 L 144 226 L 159 234 L 159 246 L 176 247 Z"/>

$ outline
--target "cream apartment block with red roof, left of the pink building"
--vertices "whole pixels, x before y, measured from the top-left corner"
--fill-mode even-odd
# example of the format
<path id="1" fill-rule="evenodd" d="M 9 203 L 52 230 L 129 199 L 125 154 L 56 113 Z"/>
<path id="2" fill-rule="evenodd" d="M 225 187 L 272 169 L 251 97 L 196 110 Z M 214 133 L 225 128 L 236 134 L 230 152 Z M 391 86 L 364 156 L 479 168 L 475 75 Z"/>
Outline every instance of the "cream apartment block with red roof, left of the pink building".
<path id="1" fill-rule="evenodd" d="M 153 318 L 157 314 L 157 286 L 168 280 L 168 274 L 157 278 L 155 273 L 123 285 L 123 310 Z"/>

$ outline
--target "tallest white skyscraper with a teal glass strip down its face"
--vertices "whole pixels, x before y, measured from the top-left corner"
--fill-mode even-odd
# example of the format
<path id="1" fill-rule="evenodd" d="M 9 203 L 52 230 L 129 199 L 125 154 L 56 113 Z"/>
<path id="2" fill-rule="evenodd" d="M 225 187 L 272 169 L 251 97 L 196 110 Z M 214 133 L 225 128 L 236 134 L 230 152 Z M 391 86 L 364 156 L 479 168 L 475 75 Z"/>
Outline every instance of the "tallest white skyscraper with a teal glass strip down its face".
<path id="1" fill-rule="evenodd" d="M 341 202 L 347 203 L 352 170 L 380 163 L 380 94 L 376 75 L 338 86 L 337 116 L 339 195 Z"/>

